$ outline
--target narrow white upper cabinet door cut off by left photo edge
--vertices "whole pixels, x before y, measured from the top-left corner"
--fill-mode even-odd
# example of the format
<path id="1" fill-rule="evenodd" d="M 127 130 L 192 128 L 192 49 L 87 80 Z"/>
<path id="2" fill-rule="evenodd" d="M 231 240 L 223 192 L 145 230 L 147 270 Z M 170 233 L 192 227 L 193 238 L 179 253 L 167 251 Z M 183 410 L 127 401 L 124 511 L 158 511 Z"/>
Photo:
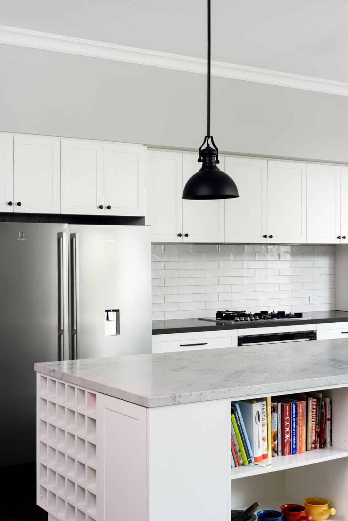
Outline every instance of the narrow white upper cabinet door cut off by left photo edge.
<path id="1" fill-rule="evenodd" d="M 9 203 L 12 203 L 9 205 Z M 13 134 L 0 133 L 0 212 L 13 212 Z"/>

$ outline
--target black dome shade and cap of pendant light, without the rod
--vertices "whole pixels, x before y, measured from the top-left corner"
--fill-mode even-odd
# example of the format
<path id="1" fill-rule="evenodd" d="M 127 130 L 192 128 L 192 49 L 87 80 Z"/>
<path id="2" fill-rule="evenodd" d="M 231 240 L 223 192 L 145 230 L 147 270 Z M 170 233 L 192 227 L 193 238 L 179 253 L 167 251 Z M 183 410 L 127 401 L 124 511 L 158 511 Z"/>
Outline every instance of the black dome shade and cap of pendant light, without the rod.
<path id="1" fill-rule="evenodd" d="M 201 151 L 202 166 L 185 184 L 183 199 L 233 199 L 239 197 L 235 182 L 217 166 L 217 151 L 208 144 Z"/>

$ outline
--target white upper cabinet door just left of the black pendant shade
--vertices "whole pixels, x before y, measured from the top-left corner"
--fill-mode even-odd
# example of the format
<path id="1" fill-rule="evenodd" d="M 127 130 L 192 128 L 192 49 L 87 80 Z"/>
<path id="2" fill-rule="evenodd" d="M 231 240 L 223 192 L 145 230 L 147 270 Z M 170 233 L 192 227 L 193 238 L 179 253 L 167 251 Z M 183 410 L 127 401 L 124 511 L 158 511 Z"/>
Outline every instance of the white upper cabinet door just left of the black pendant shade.
<path id="1" fill-rule="evenodd" d="M 182 242 L 182 154 L 149 150 L 146 224 L 153 242 Z"/>

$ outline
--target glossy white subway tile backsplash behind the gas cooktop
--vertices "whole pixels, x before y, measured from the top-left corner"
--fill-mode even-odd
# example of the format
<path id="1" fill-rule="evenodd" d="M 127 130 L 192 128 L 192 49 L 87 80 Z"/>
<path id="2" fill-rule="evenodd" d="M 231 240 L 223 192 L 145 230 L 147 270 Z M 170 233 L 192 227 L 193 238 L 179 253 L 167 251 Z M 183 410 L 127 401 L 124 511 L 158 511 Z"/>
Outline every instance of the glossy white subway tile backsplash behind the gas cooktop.
<path id="1" fill-rule="evenodd" d="M 334 309 L 333 245 L 152 244 L 151 251 L 153 320 L 227 308 Z"/>

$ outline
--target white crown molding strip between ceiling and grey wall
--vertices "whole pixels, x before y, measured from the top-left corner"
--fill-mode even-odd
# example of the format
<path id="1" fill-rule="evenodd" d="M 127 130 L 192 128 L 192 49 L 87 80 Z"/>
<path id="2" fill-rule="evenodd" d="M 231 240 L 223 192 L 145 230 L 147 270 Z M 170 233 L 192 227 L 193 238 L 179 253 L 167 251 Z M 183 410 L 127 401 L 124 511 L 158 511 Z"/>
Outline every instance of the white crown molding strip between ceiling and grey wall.
<path id="1" fill-rule="evenodd" d="M 195 72 L 198 74 L 207 73 L 207 61 L 201 58 L 148 51 L 147 49 L 71 38 L 70 36 L 59 36 L 57 34 L 18 29 L 16 27 L 0 26 L 0 43 L 94 58 L 126 61 L 139 65 L 163 67 L 165 69 Z M 211 73 L 213 76 L 219 76 L 220 78 L 348 96 L 348 83 L 229 64 L 222 61 L 212 61 Z"/>

